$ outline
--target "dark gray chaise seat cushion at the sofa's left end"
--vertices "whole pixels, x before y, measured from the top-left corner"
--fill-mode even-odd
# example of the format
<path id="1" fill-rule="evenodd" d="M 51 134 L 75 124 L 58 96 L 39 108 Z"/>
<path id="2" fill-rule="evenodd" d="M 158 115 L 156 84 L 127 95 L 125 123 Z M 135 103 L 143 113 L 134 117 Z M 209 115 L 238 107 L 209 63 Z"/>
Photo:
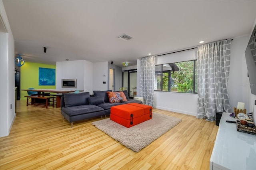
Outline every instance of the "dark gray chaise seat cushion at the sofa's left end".
<path id="1" fill-rule="evenodd" d="M 79 105 L 79 106 L 72 106 L 72 107 L 62 107 L 61 109 L 69 116 L 76 116 L 76 115 L 82 115 L 86 113 L 104 111 L 103 108 L 95 105 Z"/>

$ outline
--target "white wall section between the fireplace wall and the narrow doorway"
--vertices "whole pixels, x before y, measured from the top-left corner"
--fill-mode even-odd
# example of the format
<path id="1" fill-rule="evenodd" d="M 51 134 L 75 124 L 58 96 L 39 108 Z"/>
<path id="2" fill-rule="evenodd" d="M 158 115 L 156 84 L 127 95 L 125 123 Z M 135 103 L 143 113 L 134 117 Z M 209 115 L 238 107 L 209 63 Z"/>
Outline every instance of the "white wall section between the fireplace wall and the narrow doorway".
<path id="1" fill-rule="evenodd" d="M 108 62 L 93 63 L 93 91 L 108 90 Z M 106 82 L 105 84 L 103 82 Z"/>

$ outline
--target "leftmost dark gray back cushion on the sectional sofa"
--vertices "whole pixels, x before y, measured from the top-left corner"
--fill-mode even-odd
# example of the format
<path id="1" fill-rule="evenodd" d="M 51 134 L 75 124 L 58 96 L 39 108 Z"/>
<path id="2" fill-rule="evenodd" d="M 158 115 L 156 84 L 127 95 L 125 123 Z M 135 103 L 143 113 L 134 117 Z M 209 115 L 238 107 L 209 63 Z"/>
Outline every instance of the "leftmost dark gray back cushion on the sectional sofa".
<path id="1" fill-rule="evenodd" d="M 64 93 L 65 107 L 88 105 L 89 92 L 85 93 Z"/>

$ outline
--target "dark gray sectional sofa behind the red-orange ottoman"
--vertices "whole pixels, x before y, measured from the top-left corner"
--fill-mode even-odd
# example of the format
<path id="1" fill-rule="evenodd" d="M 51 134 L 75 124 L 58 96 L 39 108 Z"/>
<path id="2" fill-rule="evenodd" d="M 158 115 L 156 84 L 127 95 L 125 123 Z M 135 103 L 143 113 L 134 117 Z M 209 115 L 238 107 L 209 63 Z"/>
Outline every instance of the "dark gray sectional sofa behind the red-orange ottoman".
<path id="1" fill-rule="evenodd" d="M 112 91 L 112 90 L 107 90 Z M 123 105 L 127 103 L 142 103 L 142 101 L 129 99 L 128 92 L 123 91 L 127 101 L 120 103 L 110 103 L 107 91 L 94 91 L 94 95 L 90 96 L 89 92 L 85 93 L 64 93 L 61 97 L 61 114 L 64 119 L 71 123 L 90 119 L 93 117 L 103 117 L 110 115 L 110 107 Z"/>

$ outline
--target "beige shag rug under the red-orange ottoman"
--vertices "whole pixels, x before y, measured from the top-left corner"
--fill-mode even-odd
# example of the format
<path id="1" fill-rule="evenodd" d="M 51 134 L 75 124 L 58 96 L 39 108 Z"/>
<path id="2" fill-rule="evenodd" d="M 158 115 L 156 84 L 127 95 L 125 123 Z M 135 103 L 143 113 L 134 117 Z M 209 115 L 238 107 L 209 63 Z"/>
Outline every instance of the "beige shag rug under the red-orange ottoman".
<path id="1" fill-rule="evenodd" d="M 110 118 L 92 122 L 92 125 L 127 148 L 139 152 L 181 121 L 175 117 L 153 113 L 152 119 L 130 128 L 126 128 Z"/>

